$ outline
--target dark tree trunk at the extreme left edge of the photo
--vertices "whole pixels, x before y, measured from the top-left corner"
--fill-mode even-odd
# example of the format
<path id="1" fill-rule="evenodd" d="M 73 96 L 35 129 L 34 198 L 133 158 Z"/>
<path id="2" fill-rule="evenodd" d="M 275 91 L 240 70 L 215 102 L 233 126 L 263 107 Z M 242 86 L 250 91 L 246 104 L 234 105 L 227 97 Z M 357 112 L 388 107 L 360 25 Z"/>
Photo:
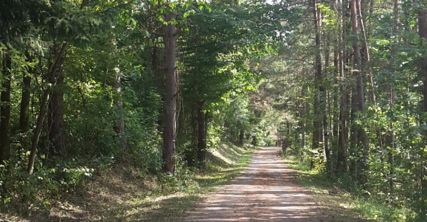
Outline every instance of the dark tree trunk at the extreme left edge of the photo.
<path id="1" fill-rule="evenodd" d="M 11 156 L 11 68 L 12 61 L 9 54 L 5 53 L 3 56 L 3 87 L 0 106 L 0 114 L 2 115 L 0 121 L 0 164 L 3 161 L 8 161 Z"/>

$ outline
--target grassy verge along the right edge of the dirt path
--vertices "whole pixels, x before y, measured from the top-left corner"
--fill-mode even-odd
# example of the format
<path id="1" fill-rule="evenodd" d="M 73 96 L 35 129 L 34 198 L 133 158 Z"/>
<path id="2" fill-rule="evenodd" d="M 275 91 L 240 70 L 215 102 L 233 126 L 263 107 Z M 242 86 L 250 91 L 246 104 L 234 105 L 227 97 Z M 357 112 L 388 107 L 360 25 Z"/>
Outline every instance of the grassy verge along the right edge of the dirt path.
<path id="1" fill-rule="evenodd" d="M 319 206 L 337 220 L 407 221 L 410 217 L 411 211 L 407 208 L 345 192 L 340 184 L 329 181 L 318 170 L 310 170 L 308 164 L 295 157 L 286 157 L 284 161 L 294 170 L 297 181 L 311 191 Z"/>

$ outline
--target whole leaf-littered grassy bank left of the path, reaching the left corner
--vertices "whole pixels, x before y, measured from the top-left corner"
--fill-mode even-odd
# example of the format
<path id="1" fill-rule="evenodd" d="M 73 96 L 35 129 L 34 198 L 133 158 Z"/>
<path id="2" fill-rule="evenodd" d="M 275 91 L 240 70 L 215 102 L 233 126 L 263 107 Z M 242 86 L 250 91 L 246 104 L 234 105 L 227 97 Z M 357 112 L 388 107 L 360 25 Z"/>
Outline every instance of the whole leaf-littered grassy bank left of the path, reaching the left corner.
<path id="1" fill-rule="evenodd" d="M 252 145 L 223 144 L 209 150 L 205 165 L 199 168 L 187 167 L 184 161 L 179 161 L 174 176 L 146 173 L 125 161 L 110 161 L 110 164 L 104 161 L 105 165 L 93 169 L 90 175 L 83 174 L 79 177 L 80 184 L 68 186 L 61 195 L 52 189 L 33 203 L 14 201 L 13 207 L 3 210 L 0 219 L 171 220 L 238 175 L 256 149 Z"/>

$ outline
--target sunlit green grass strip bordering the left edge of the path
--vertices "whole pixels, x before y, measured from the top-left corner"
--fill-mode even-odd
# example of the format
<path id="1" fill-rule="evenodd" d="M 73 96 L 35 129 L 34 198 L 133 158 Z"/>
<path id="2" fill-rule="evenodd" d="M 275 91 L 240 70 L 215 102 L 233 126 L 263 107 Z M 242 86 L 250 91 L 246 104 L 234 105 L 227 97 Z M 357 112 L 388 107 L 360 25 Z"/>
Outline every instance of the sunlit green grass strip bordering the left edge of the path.
<path id="1" fill-rule="evenodd" d="M 226 184 L 245 169 L 256 149 L 252 146 L 241 148 L 223 145 L 219 150 L 210 150 L 206 165 L 201 170 L 193 169 L 188 173 L 187 179 L 194 181 L 193 186 L 182 187 L 179 192 L 155 189 L 157 193 L 153 190 L 151 195 L 134 198 L 126 204 L 117 206 L 116 210 L 104 218 L 128 221 L 176 220 L 194 203 L 201 201 L 209 192 Z"/>

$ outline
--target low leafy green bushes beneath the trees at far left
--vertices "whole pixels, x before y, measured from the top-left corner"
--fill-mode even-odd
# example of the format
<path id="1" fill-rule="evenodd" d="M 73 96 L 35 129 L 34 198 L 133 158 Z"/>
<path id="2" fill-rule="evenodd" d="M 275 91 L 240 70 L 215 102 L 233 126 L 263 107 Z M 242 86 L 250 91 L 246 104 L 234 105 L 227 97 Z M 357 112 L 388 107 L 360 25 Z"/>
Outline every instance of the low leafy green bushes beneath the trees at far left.
<path id="1" fill-rule="evenodd" d="M 73 159 L 70 162 L 59 162 L 48 166 L 44 155 L 35 165 L 38 171 L 33 174 L 26 173 L 29 152 L 19 149 L 12 153 L 10 161 L 14 164 L 3 163 L 0 165 L 0 185 L 2 186 L 2 209 L 21 207 L 21 204 L 31 205 L 32 209 L 49 210 L 54 204 L 53 199 L 60 197 L 61 193 L 72 192 L 76 186 L 91 177 L 94 168 L 102 170 L 113 164 L 112 158 L 96 158 L 92 163 L 84 163 Z M 82 165 L 81 165 L 82 164 Z"/>

